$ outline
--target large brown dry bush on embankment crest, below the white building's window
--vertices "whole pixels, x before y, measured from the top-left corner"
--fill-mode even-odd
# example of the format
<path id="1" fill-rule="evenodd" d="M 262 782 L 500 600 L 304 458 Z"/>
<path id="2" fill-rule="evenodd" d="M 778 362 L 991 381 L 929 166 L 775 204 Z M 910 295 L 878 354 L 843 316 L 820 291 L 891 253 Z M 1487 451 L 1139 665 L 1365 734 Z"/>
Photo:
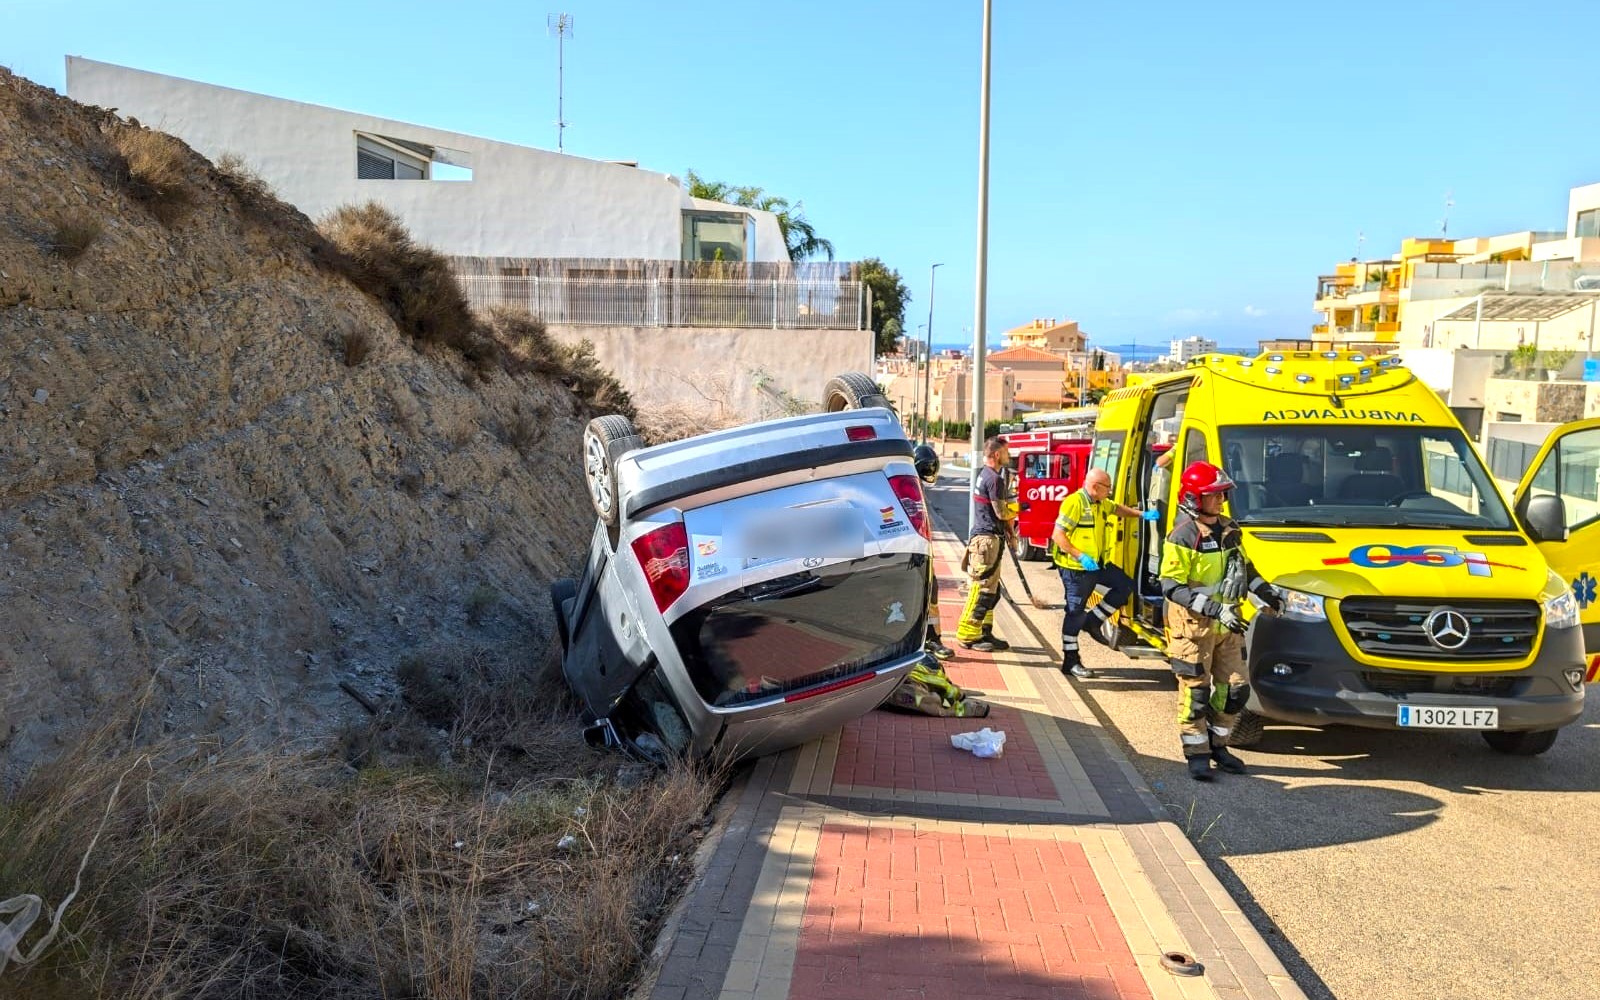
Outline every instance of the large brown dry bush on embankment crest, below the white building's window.
<path id="1" fill-rule="evenodd" d="M 475 330 L 467 298 L 443 254 L 416 243 L 382 205 L 344 205 L 317 227 L 339 253 L 339 264 L 395 325 L 422 344 L 440 344 L 466 357 L 475 370 L 498 365 L 493 341 Z"/>

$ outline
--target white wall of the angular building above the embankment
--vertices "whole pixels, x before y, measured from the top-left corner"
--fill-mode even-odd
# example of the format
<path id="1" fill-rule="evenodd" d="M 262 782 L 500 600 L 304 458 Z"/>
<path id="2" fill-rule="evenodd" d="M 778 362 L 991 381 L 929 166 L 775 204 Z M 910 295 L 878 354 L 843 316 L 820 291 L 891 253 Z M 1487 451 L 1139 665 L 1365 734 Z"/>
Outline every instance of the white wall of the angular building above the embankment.
<path id="1" fill-rule="evenodd" d="M 416 240 L 462 256 L 682 256 L 688 194 L 669 174 L 477 136 L 374 118 L 317 104 L 163 77 L 67 56 L 67 94 L 115 107 L 216 160 L 237 154 L 277 195 L 310 218 L 381 202 Z M 358 181 L 355 133 L 450 150 L 470 181 Z M 459 154 L 459 155 L 458 155 Z M 771 213 L 755 218 L 757 261 L 787 261 Z"/>

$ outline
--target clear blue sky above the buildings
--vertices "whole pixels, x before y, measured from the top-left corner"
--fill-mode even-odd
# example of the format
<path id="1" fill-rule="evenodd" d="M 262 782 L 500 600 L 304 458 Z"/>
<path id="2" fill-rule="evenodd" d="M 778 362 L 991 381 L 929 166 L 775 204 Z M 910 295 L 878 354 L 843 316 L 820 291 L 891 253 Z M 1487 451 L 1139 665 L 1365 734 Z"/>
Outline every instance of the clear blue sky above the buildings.
<path id="1" fill-rule="evenodd" d="M 560 6 L 558 6 L 560 3 Z M 907 326 L 970 336 L 978 0 L 0 0 L 0 64 L 82 54 L 802 200 L 880 256 Z M 1318 274 L 1438 232 L 1562 229 L 1600 181 L 1600 5 L 995 0 L 990 341 L 1304 334 Z"/>

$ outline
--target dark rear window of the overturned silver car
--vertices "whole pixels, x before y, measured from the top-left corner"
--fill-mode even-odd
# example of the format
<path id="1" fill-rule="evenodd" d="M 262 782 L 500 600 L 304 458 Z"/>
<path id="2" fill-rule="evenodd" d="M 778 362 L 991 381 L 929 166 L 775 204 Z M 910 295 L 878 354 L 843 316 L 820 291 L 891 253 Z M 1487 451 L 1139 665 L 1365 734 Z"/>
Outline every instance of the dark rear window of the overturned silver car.
<path id="1" fill-rule="evenodd" d="M 701 698 L 730 707 L 910 656 L 926 606 L 928 557 L 896 552 L 723 594 L 672 635 Z"/>

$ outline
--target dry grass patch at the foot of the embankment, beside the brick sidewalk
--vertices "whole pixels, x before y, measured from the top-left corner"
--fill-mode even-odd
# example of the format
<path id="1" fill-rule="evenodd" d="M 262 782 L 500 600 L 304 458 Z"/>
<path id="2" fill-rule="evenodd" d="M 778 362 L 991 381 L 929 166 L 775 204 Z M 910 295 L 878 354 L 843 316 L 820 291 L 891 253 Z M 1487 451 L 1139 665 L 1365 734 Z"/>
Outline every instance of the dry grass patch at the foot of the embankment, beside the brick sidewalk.
<path id="1" fill-rule="evenodd" d="M 46 909 L 120 790 L 69 933 L 8 1000 L 622 995 L 722 776 L 624 779 L 510 666 L 459 670 L 491 749 L 450 765 L 102 736 L 42 771 L 0 803 L 0 885 Z"/>

